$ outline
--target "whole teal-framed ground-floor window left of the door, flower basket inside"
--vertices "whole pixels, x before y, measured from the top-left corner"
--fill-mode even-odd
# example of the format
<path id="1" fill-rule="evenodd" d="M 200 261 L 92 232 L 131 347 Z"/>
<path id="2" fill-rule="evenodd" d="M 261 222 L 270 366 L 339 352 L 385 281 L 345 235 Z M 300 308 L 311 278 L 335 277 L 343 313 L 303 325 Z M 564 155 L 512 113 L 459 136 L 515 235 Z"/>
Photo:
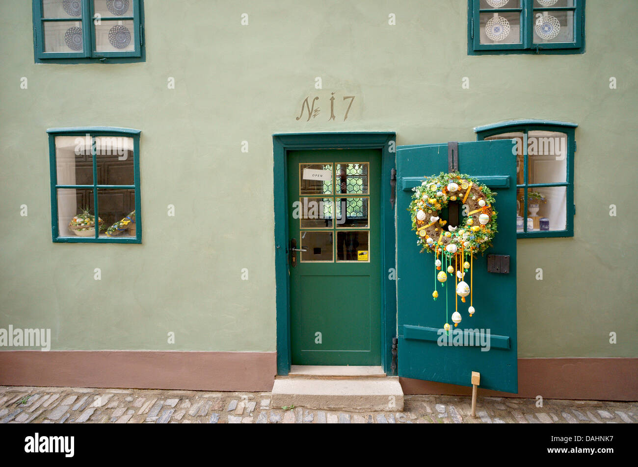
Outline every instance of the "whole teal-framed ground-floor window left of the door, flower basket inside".
<path id="1" fill-rule="evenodd" d="M 53 241 L 142 243 L 140 131 L 52 128 Z"/>

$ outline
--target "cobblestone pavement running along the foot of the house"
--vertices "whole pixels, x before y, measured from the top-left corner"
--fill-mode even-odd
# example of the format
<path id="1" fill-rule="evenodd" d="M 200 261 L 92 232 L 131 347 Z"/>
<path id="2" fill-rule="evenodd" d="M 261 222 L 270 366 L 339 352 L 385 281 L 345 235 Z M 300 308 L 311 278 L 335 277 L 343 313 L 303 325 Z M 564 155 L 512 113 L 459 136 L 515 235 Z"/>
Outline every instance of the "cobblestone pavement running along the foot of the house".
<path id="1" fill-rule="evenodd" d="M 405 396 L 404 412 L 285 410 L 269 392 L 0 386 L 1 423 L 636 423 L 638 402 Z"/>

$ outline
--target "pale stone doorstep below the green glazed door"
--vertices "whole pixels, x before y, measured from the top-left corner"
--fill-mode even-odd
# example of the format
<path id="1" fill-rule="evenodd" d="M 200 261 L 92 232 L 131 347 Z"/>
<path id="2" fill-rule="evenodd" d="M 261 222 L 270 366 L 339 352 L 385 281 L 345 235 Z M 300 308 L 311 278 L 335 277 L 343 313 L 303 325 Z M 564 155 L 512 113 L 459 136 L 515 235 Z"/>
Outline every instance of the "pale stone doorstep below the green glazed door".
<path id="1" fill-rule="evenodd" d="M 276 377 L 272 387 L 271 407 L 292 405 L 350 412 L 402 412 L 403 389 L 397 377 Z"/>

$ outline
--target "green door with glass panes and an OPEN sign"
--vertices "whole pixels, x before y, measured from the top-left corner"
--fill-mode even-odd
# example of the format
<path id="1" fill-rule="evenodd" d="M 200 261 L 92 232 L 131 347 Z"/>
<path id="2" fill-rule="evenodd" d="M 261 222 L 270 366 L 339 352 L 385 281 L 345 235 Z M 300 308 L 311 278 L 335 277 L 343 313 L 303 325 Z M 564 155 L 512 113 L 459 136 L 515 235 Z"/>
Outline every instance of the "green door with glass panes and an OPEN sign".
<path id="1" fill-rule="evenodd" d="M 378 150 L 288 153 L 292 364 L 381 364 L 380 166 Z"/>

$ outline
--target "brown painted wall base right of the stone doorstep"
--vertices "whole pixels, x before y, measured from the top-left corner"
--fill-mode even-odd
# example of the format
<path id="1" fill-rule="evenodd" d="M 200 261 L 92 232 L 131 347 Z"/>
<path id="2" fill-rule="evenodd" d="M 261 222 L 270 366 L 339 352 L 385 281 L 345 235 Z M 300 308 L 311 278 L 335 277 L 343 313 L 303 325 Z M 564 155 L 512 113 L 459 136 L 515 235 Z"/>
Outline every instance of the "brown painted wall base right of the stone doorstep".
<path id="1" fill-rule="evenodd" d="M 524 358 L 519 392 L 480 389 L 479 396 L 544 399 L 638 400 L 638 358 Z M 405 394 L 470 396 L 471 387 L 400 378 Z M 468 384 L 470 375 L 468 375 Z"/>

